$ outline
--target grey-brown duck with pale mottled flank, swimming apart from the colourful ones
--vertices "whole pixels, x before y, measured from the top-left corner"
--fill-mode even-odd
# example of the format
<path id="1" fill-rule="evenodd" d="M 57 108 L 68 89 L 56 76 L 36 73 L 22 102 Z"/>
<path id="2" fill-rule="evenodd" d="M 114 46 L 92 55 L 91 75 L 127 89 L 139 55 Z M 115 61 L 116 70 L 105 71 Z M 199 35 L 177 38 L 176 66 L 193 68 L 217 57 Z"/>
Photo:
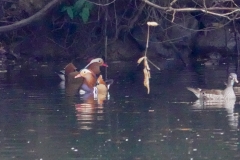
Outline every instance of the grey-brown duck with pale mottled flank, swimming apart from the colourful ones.
<path id="1" fill-rule="evenodd" d="M 236 95 L 233 91 L 234 82 L 238 83 L 237 75 L 235 73 L 230 73 L 228 76 L 227 86 L 224 90 L 218 89 L 200 89 L 200 88 L 191 88 L 187 89 L 193 92 L 198 99 L 202 100 L 230 100 L 236 99 Z"/>

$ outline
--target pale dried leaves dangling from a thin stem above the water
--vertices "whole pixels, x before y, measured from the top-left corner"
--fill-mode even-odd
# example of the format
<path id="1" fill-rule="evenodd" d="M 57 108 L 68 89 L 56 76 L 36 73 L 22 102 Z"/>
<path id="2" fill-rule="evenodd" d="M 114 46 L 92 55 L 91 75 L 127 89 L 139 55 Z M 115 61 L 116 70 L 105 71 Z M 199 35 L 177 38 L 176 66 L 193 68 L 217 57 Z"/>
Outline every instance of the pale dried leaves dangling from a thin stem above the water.
<path id="1" fill-rule="evenodd" d="M 140 64 L 142 61 L 143 61 L 143 64 L 144 64 L 144 69 L 143 69 L 144 81 L 143 81 L 143 84 L 147 88 L 147 91 L 148 91 L 148 94 L 149 94 L 150 93 L 150 82 L 149 82 L 149 79 L 151 78 L 150 67 L 148 65 L 148 61 L 147 61 L 147 57 L 146 56 L 143 56 L 143 57 L 139 58 L 137 63 Z"/>

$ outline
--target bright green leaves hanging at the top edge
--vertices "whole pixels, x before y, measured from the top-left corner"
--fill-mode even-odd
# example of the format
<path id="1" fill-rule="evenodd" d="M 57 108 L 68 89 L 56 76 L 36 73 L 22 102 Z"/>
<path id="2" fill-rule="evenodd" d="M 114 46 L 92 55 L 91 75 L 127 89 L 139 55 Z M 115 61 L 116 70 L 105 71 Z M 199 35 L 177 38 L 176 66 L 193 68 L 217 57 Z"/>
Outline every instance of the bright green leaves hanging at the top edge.
<path id="1" fill-rule="evenodd" d="M 67 12 L 68 16 L 73 19 L 75 17 L 81 17 L 84 23 L 87 23 L 90 16 L 90 11 L 93 8 L 93 4 L 86 0 L 77 0 L 72 6 L 63 6 L 61 12 Z"/>

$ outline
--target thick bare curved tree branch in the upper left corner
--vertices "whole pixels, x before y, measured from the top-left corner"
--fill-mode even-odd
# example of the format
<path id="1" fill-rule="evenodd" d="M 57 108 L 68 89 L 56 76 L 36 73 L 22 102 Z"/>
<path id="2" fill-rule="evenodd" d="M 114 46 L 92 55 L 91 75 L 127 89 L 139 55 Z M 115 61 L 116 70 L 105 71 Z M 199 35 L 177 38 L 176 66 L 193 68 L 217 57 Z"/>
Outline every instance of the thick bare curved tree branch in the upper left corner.
<path id="1" fill-rule="evenodd" d="M 38 11 L 37 13 L 35 13 L 34 15 L 32 15 L 31 17 L 28 17 L 26 19 L 23 19 L 21 21 L 18 21 L 16 23 L 10 24 L 10 25 L 6 25 L 6 26 L 1 26 L 0 27 L 0 33 L 1 32 L 8 32 L 8 31 L 12 31 L 15 29 L 19 29 L 23 26 L 29 25 L 30 23 L 39 20 L 40 18 L 42 18 L 44 15 L 47 14 L 47 12 L 54 7 L 56 4 L 58 4 L 59 2 L 61 2 L 62 0 L 52 0 L 51 2 L 49 2 L 43 9 L 41 9 L 40 11 Z"/>

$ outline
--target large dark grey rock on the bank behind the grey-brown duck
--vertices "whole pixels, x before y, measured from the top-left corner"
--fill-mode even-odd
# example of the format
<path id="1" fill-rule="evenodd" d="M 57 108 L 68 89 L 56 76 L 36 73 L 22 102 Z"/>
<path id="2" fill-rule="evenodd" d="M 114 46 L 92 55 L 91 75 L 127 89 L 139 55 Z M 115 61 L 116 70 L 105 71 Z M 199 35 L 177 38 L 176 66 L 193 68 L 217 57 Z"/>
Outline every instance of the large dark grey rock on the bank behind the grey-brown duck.
<path id="1" fill-rule="evenodd" d="M 199 23 L 203 25 L 204 32 L 198 32 L 194 54 L 209 56 L 209 51 L 219 52 L 222 56 L 234 55 L 236 52 L 235 32 L 233 26 L 226 25 L 226 19 L 216 19 L 204 15 Z"/>

